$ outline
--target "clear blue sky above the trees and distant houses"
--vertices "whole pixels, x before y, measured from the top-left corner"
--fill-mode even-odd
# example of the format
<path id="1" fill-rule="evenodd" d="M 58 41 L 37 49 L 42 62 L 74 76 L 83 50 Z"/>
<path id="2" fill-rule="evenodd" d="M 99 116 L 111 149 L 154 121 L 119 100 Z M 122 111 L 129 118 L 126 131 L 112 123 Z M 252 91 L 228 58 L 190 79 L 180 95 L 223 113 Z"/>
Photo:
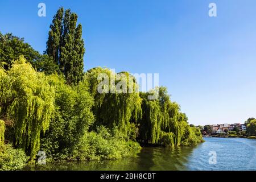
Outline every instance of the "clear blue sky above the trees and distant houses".
<path id="1" fill-rule="evenodd" d="M 38 3 L 47 16 L 38 16 Z M 210 2 L 217 17 L 208 16 Z M 255 0 L 1 1 L 0 31 L 43 52 L 52 16 L 79 15 L 85 71 L 97 66 L 159 73 L 189 123 L 242 123 L 256 117 Z"/>

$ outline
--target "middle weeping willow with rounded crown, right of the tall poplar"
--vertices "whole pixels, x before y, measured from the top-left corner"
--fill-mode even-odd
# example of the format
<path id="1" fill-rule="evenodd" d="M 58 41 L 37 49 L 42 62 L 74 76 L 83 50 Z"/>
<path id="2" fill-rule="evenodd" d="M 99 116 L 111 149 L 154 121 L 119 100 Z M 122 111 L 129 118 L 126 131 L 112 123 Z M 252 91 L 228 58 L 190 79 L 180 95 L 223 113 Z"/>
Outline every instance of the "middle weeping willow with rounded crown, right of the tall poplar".
<path id="1" fill-rule="evenodd" d="M 115 74 L 100 67 L 90 69 L 85 78 L 94 98 L 94 125 L 117 128 L 129 139 L 135 133 L 135 123 L 142 116 L 142 100 L 135 78 L 127 72 Z"/>

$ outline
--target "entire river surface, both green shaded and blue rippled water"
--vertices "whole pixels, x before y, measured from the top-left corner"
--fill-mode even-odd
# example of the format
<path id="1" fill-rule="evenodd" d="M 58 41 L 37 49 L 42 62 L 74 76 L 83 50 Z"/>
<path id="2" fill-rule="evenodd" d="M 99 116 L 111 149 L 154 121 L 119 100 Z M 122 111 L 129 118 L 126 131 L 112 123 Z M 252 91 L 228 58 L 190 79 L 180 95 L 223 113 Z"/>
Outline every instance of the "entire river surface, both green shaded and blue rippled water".
<path id="1" fill-rule="evenodd" d="M 215 151 L 217 164 L 209 164 Z M 26 170 L 256 170 L 256 139 L 205 138 L 197 147 L 145 147 L 137 156 L 101 162 L 55 163 Z"/>

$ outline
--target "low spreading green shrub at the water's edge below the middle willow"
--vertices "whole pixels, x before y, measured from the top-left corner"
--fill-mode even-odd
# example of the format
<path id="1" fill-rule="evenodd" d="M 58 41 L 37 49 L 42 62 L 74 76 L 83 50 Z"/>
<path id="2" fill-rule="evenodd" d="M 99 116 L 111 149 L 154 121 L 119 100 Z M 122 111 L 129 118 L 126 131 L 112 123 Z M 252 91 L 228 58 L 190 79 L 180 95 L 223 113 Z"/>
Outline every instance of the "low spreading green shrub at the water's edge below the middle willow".
<path id="1" fill-rule="evenodd" d="M 141 149 L 139 143 L 125 142 L 119 136 L 110 134 L 105 127 L 86 133 L 76 148 L 73 154 L 76 160 L 120 159 Z"/>

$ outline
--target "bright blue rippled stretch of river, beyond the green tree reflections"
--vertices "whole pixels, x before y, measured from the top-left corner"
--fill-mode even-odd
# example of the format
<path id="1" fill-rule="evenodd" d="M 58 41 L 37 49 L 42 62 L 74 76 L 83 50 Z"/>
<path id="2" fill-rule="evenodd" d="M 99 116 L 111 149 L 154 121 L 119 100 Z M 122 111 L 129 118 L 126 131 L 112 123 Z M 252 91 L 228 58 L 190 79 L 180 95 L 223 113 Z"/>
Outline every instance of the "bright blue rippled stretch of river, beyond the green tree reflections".
<path id="1" fill-rule="evenodd" d="M 256 170 L 256 140 L 246 138 L 206 138 L 189 157 L 190 170 Z M 216 151 L 217 164 L 210 165 L 208 155 Z"/>

